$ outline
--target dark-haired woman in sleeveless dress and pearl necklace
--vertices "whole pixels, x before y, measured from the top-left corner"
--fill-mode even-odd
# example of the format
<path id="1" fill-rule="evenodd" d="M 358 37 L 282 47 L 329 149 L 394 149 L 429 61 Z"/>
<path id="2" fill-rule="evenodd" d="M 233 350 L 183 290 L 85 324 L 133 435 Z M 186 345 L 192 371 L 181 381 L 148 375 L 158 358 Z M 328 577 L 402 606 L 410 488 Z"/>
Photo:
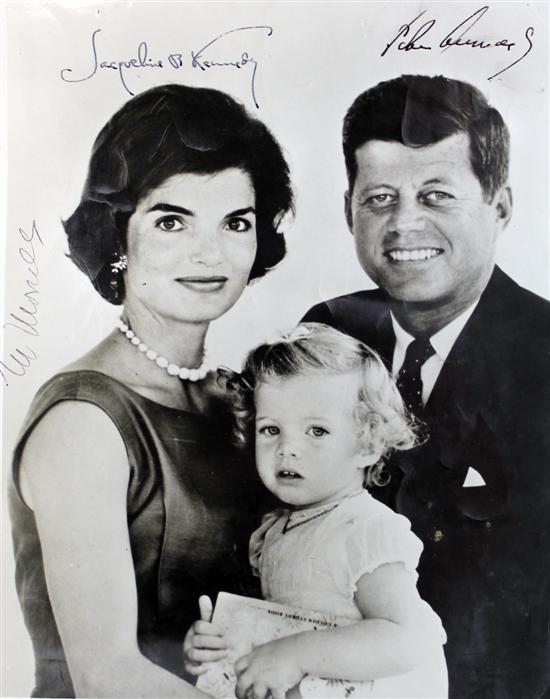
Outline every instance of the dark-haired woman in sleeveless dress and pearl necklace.
<path id="1" fill-rule="evenodd" d="M 199 594 L 246 588 L 255 487 L 204 338 L 291 207 L 277 142 L 221 92 L 153 88 L 99 134 L 65 230 L 121 321 L 38 392 L 10 488 L 34 696 L 202 695 L 182 639 Z"/>

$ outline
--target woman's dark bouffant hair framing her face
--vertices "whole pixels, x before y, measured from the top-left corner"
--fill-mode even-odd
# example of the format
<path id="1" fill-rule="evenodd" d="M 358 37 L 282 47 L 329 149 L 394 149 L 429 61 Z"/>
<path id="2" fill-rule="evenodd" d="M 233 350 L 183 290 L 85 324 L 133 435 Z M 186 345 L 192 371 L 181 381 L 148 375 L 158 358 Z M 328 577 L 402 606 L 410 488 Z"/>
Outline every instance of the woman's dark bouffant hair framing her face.
<path id="1" fill-rule="evenodd" d="M 169 177 L 241 168 L 256 198 L 258 249 L 250 279 L 285 255 L 278 227 L 293 209 L 289 169 L 267 127 L 218 90 L 154 87 L 127 102 L 97 137 L 80 204 L 64 222 L 70 257 L 107 301 L 124 301 L 111 264 L 126 251 L 126 229 L 140 199 Z"/>

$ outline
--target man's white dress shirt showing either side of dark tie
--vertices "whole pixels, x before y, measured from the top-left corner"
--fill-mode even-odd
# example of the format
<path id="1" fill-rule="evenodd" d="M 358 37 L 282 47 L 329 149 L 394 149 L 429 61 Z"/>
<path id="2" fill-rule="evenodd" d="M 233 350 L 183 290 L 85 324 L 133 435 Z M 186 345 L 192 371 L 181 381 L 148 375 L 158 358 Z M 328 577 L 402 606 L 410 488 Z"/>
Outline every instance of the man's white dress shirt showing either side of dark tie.
<path id="1" fill-rule="evenodd" d="M 420 370 L 420 378 L 422 379 L 422 403 L 426 405 L 428 398 L 435 386 L 439 372 L 443 368 L 445 360 L 449 356 L 454 343 L 456 342 L 458 336 L 462 332 L 464 326 L 468 322 L 468 319 L 475 310 L 478 304 L 475 301 L 471 306 L 451 321 L 444 328 L 441 328 L 435 335 L 430 337 L 430 342 L 435 350 L 429 359 L 427 359 L 422 365 Z M 399 325 L 395 319 L 393 313 L 391 314 L 391 320 L 393 325 L 393 331 L 395 333 L 395 349 L 393 350 L 393 361 L 392 361 L 392 374 L 394 378 L 397 378 L 397 374 L 405 361 L 405 353 L 407 352 L 407 347 L 414 340 L 412 335 Z"/>

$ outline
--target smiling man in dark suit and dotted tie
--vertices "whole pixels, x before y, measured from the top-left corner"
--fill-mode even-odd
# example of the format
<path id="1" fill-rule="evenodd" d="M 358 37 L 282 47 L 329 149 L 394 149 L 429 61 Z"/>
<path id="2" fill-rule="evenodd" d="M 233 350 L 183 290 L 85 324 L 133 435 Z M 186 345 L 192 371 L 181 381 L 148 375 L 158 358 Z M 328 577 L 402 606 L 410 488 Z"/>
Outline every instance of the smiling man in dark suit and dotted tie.
<path id="1" fill-rule="evenodd" d="M 463 82 L 361 94 L 344 121 L 346 217 L 380 288 L 304 318 L 378 350 L 427 425 L 376 495 L 424 542 L 419 589 L 457 699 L 550 696 L 550 303 L 495 267 L 508 140 Z"/>

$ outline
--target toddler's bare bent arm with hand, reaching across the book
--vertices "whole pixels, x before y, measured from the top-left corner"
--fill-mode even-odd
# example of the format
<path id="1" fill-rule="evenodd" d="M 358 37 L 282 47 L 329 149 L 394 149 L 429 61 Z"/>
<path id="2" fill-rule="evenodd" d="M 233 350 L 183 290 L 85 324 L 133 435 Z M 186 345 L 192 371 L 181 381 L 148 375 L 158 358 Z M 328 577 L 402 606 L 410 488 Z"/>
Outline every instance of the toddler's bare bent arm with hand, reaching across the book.
<path id="1" fill-rule="evenodd" d="M 355 600 L 363 621 L 287 636 L 241 658 L 235 666 L 238 696 L 251 687 L 254 696 L 264 687 L 284 696 L 306 674 L 349 680 L 402 674 L 440 645 L 431 615 L 432 624 L 427 619 L 429 609 L 402 563 L 387 563 L 363 575 Z M 288 686 L 281 684 L 283 678 Z"/>

